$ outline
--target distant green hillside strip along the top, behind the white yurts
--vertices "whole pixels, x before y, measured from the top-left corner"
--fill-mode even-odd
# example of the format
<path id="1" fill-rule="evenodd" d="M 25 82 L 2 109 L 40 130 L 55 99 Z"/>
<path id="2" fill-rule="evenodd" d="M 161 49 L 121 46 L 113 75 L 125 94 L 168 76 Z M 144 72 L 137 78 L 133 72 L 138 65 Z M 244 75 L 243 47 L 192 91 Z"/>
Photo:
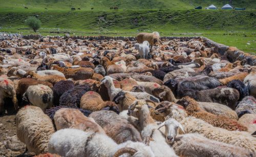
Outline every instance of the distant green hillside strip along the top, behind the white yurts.
<path id="1" fill-rule="evenodd" d="M 5 10 L 20 11 L 25 10 L 24 6 L 28 7 L 25 11 L 31 10 L 70 10 L 71 7 L 81 8 L 82 10 L 109 10 L 110 7 L 117 6 L 119 9 L 174 9 L 186 10 L 193 9 L 196 6 L 203 8 L 214 4 L 219 9 L 229 4 L 229 1 L 223 0 L 0 0 L 0 8 Z M 231 1 L 231 5 L 237 8 L 255 9 L 256 3 L 254 0 L 235 0 Z"/>

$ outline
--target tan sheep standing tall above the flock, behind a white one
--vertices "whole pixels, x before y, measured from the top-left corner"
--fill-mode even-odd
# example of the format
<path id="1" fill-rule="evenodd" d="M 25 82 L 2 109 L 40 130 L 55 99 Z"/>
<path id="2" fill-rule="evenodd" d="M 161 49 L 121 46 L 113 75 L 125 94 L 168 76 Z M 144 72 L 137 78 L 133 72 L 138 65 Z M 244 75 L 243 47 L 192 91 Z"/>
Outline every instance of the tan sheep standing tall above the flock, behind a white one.
<path id="1" fill-rule="evenodd" d="M 153 45 L 160 41 L 160 35 L 158 32 L 153 33 L 139 33 L 137 35 L 138 43 L 143 43 L 144 41 L 148 41 L 149 45 L 151 45 L 150 53 L 152 51 Z"/>

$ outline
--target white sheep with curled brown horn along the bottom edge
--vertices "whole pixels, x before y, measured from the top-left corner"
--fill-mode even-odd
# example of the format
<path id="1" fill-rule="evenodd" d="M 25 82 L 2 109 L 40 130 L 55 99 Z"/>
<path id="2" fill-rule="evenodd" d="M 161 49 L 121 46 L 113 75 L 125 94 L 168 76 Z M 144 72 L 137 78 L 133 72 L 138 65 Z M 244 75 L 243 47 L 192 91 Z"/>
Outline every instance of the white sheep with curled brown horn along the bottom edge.
<path id="1" fill-rule="evenodd" d="M 104 142 L 102 142 L 104 141 Z M 127 141 L 117 144 L 108 136 L 66 128 L 53 134 L 49 141 L 49 152 L 61 156 L 114 156 L 124 153 L 130 156 L 154 156 L 150 147 L 140 142 Z"/>

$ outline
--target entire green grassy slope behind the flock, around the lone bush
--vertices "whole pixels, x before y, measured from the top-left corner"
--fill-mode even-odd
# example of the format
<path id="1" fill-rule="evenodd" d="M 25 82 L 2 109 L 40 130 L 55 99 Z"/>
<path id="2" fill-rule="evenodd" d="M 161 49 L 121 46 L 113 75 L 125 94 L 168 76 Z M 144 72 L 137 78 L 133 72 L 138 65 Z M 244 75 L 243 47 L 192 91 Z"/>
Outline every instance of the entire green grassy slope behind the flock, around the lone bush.
<path id="1" fill-rule="evenodd" d="M 209 0 L 0 0 L 0 32 L 31 34 L 24 24 L 28 16 L 39 15 L 40 34 L 49 32 L 74 35 L 136 35 L 159 31 L 162 36 L 203 35 L 214 41 L 256 52 L 256 3 L 232 1 L 234 10 L 193 10 L 195 6 L 214 4 L 221 7 L 229 1 Z M 26 5 L 29 9 L 24 9 Z M 119 11 L 109 7 L 119 6 Z M 71 7 L 81 11 L 70 11 Z M 91 11 L 90 8 L 94 7 Z M 48 12 L 44 8 L 48 8 Z M 126 8 L 127 10 L 122 10 Z M 154 9 L 153 9 L 154 8 Z M 140 10 L 138 10 L 140 9 Z M 163 9 L 163 10 L 159 10 Z M 167 10 L 168 9 L 168 10 Z"/>

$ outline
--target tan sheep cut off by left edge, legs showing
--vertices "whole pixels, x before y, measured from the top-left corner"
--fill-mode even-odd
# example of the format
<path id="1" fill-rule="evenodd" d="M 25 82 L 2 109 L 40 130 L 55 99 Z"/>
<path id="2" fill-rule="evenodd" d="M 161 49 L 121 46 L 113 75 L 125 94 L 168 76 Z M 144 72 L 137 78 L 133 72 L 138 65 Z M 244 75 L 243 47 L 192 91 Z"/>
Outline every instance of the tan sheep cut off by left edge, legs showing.
<path id="1" fill-rule="evenodd" d="M 4 111 L 4 99 L 7 97 L 12 98 L 14 109 L 18 110 L 14 83 L 9 79 L 0 77 L 0 113 Z"/>

